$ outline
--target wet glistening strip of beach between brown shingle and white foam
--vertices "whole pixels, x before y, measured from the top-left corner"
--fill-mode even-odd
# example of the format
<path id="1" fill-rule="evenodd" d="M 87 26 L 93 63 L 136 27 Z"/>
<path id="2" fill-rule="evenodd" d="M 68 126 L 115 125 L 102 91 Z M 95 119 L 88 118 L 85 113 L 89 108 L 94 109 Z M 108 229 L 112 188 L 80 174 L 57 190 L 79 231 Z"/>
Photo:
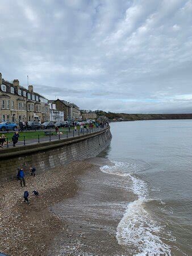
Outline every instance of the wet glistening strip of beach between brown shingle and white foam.
<path id="1" fill-rule="evenodd" d="M 127 191 L 127 180 L 99 170 L 106 159 L 87 160 L 89 170 L 78 176 L 78 192 L 51 207 L 66 222 L 66 232 L 53 241 L 48 255 L 129 254 L 116 240 L 116 227 L 127 203 L 134 197 Z"/>

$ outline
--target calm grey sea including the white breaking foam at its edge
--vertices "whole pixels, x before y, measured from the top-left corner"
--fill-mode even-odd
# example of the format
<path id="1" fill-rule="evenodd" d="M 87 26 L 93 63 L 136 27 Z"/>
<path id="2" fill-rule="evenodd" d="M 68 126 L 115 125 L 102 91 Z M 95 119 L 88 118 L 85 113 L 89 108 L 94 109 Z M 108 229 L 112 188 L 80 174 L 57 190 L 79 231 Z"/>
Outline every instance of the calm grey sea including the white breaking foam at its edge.
<path id="1" fill-rule="evenodd" d="M 101 172 L 122 177 L 128 201 L 116 228 L 130 255 L 192 255 L 192 120 L 110 123 Z"/>

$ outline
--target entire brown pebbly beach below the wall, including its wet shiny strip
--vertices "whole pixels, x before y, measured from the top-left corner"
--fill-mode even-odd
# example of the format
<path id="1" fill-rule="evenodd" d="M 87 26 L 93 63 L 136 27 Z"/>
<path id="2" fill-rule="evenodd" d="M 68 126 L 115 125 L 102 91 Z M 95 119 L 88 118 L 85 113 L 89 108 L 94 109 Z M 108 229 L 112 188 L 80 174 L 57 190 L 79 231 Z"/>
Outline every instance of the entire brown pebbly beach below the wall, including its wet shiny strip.
<path id="1" fill-rule="evenodd" d="M 123 188 L 122 178 L 99 170 L 103 161 L 74 162 L 28 176 L 26 188 L 16 180 L 5 183 L 2 253 L 128 254 L 115 236 L 116 226 L 133 198 L 126 191 L 126 182 Z M 34 189 L 39 191 L 39 198 L 32 196 Z M 24 203 L 25 190 L 30 192 L 30 205 Z"/>

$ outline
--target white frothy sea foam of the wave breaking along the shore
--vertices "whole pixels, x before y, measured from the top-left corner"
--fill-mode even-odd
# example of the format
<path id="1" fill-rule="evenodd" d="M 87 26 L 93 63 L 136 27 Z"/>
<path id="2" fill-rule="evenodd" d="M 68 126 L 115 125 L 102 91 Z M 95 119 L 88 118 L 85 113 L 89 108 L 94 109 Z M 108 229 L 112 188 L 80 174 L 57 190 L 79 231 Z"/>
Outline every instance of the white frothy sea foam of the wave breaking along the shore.
<path id="1" fill-rule="evenodd" d="M 145 170 L 145 164 L 133 160 L 131 163 L 112 161 L 113 166 L 102 166 L 101 171 L 107 174 L 127 177 L 129 187 L 137 195 L 137 200 L 127 205 L 126 212 L 116 229 L 116 239 L 120 245 L 126 245 L 135 255 L 171 255 L 170 247 L 162 242 L 160 233 L 164 232 L 145 209 L 148 199 L 147 183 L 134 176 L 134 173 Z"/>

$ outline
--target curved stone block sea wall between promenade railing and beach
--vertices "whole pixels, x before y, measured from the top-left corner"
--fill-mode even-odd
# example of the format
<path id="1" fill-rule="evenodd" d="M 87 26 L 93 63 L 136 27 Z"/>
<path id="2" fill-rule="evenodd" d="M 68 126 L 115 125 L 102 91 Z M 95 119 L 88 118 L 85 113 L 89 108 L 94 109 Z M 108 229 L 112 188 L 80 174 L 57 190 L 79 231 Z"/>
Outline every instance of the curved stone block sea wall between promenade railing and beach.
<path id="1" fill-rule="evenodd" d="M 0 153 L 0 180 L 15 179 L 18 167 L 35 166 L 37 172 L 97 156 L 111 141 L 110 127 L 93 134 L 53 142 L 10 148 Z"/>

